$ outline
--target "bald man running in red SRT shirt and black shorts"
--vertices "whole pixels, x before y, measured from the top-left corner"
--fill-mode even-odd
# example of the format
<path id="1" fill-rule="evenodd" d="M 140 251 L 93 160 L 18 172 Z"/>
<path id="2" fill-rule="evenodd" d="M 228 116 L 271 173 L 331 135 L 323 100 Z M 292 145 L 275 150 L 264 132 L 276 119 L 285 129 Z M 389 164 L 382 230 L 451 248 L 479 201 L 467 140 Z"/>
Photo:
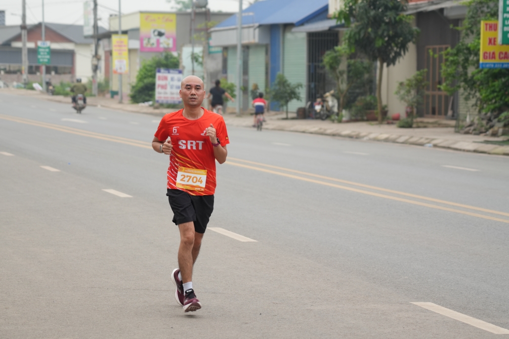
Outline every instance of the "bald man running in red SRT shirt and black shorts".
<path id="1" fill-rule="evenodd" d="M 199 77 L 182 80 L 180 97 L 184 109 L 163 116 L 152 148 L 169 155 L 166 195 L 180 231 L 180 269 L 173 270 L 172 281 L 175 299 L 189 312 L 202 308 L 192 288 L 192 268 L 214 209 L 215 161 L 226 161 L 230 141 L 222 116 L 201 107 L 205 90 Z"/>

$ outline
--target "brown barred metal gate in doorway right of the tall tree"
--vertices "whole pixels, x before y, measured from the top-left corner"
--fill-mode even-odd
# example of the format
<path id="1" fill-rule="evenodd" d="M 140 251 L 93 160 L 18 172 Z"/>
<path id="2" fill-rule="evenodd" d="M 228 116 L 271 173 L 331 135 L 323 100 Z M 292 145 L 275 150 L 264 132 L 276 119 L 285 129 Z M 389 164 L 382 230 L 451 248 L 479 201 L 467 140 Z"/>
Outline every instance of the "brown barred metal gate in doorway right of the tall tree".
<path id="1" fill-rule="evenodd" d="M 449 48 L 449 45 L 426 46 L 426 81 L 428 86 L 424 97 L 424 116 L 427 118 L 445 118 L 449 110 L 449 96 L 440 88 L 444 78 L 442 76 L 442 67 L 444 65 L 444 56 L 442 52 Z M 452 100 L 452 97 L 450 98 Z"/>

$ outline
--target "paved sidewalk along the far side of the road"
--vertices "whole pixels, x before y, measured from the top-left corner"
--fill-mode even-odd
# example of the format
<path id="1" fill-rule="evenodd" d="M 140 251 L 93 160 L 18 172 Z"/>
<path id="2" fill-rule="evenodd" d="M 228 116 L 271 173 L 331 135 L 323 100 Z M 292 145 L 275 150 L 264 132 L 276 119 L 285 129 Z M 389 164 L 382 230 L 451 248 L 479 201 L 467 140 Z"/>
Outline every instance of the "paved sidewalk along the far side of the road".
<path id="1" fill-rule="evenodd" d="M 35 90 L 4 88 L 0 93 L 13 95 L 29 95 L 39 99 L 68 103 L 70 98 L 62 96 L 48 96 Z M 163 116 L 166 113 L 174 112 L 175 109 L 154 109 L 150 106 L 122 103 L 117 100 L 104 97 L 87 98 L 88 104 L 92 106 L 123 110 L 135 113 L 145 113 Z M 289 114 L 290 119 L 284 119 L 285 113 L 269 112 L 266 114 L 267 122 L 264 129 L 322 134 L 345 138 L 374 140 L 383 142 L 397 142 L 427 147 L 441 147 L 469 152 L 489 153 L 494 155 L 509 156 L 509 145 L 501 146 L 496 144 L 483 143 L 490 140 L 505 140 L 507 137 L 488 137 L 481 135 L 460 134 L 454 132 L 454 122 L 450 120 L 419 119 L 428 123 L 439 121 L 441 125 L 448 127 L 429 127 L 402 129 L 396 125 L 378 125 L 374 122 L 347 122 L 342 124 L 333 123 L 330 120 L 322 121 L 316 119 L 292 119 L 295 113 Z M 224 121 L 229 126 L 252 128 L 253 116 L 225 114 Z"/>

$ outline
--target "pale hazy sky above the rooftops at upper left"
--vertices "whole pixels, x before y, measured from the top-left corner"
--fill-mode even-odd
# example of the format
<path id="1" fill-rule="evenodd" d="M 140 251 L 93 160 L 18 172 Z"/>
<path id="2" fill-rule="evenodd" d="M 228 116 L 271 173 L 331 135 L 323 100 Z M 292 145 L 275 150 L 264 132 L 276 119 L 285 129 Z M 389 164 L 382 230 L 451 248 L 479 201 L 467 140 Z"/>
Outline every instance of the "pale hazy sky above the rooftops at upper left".
<path id="1" fill-rule="evenodd" d="M 171 11 L 172 5 L 166 0 L 121 0 L 122 13 L 136 11 Z M 249 6 L 252 0 L 243 0 L 243 7 Z M 107 27 L 108 17 L 118 13 L 118 0 L 98 0 L 100 18 L 99 25 Z M 104 6 L 104 7 L 102 7 Z M 109 8 L 109 9 L 108 9 Z M 212 11 L 236 12 L 239 8 L 238 0 L 209 0 Z M 21 0 L 1 0 L 0 10 L 6 11 L 6 24 L 21 23 Z M 83 24 L 83 0 L 45 0 L 44 19 L 47 22 Z M 26 22 L 42 21 L 42 0 L 26 0 Z"/>

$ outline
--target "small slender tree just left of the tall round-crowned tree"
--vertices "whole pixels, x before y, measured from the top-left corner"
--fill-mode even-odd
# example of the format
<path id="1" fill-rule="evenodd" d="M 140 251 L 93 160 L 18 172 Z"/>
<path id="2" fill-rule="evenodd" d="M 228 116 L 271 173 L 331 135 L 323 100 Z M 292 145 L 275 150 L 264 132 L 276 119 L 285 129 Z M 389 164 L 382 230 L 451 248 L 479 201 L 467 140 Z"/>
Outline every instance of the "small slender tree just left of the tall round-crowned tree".
<path id="1" fill-rule="evenodd" d="M 357 83 L 365 82 L 372 69 L 372 63 L 363 59 L 348 59 L 351 51 L 346 45 L 336 46 L 323 55 L 322 64 L 336 82 L 336 96 L 340 101 L 338 115 L 343 112 L 349 89 Z M 346 61 L 346 67 L 343 67 Z"/>

